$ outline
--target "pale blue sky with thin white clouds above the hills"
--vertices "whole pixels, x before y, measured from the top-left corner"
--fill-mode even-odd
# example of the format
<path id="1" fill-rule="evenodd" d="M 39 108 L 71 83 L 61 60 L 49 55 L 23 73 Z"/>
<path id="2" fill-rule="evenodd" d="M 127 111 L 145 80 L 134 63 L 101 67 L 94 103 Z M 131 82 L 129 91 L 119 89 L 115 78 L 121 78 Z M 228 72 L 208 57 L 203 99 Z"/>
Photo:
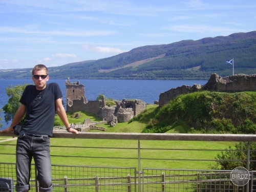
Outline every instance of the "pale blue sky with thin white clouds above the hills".
<path id="1" fill-rule="evenodd" d="M 256 29 L 254 0 L 0 0 L 0 70 Z"/>

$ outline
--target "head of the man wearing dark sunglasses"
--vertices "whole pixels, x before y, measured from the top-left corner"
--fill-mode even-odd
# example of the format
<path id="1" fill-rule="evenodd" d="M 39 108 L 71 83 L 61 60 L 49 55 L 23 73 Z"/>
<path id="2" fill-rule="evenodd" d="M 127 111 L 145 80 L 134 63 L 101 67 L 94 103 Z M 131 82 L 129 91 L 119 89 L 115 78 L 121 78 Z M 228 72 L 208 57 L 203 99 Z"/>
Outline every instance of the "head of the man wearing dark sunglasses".
<path id="1" fill-rule="evenodd" d="M 46 88 L 46 82 L 49 80 L 48 69 L 44 65 L 36 65 L 32 70 L 32 79 L 37 90 Z"/>

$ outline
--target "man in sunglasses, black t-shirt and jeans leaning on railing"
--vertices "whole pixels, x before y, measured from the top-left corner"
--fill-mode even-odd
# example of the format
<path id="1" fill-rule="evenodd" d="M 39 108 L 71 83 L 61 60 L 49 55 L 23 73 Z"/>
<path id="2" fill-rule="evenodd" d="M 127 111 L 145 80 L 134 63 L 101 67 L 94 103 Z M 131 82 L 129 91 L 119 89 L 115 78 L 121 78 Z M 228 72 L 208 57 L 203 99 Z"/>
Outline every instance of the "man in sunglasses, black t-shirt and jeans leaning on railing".
<path id="1" fill-rule="evenodd" d="M 48 69 L 44 65 L 36 65 L 32 70 L 35 85 L 25 88 L 13 121 L 2 132 L 12 132 L 13 126 L 19 123 L 26 114 L 16 145 L 16 191 L 30 190 L 30 165 L 32 158 L 37 169 L 37 180 L 40 191 L 53 191 L 50 136 L 53 135 L 55 112 L 67 127 L 67 131 L 78 134 L 70 127 L 65 108 L 62 105 L 62 93 L 57 83 L 48 83 Z"/>

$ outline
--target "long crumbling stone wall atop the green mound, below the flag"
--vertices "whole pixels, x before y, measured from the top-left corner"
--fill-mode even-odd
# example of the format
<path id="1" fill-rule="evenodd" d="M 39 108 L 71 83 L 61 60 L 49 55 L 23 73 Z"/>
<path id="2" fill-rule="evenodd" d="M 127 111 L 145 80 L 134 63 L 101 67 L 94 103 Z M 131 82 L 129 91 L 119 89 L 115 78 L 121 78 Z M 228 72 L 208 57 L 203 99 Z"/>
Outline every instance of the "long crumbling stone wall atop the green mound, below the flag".
<path id="1" fill-rule="evenodd" d="M 163 106 L 178 95 L 193 93 L 196 91 L 217 91 L 217 92 L 242 92 L 256 91 L 256 74 L 238 74 L 228 77 L 221 77 L 216 73 L 212 74 L 208 82 L 201 86 L 181 86 L 163 92 L 159 96 L 159 106 Z"/>

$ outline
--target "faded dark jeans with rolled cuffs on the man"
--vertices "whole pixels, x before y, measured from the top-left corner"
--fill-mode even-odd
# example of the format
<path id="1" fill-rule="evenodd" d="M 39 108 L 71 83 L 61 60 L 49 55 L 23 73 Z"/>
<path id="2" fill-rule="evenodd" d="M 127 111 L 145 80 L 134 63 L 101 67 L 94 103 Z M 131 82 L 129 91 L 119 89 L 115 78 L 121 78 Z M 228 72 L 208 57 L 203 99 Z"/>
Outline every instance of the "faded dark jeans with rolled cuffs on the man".
<path id="1" fill-rule="evenodd" d="M 50 138 L 19 135 L 16 145 L 16 191 L 30 190 L 31 161 L 34 159 L 37 169 L 37 180 L 41 192 L 51 192 L 52 167 L 50 156 Z"/>

